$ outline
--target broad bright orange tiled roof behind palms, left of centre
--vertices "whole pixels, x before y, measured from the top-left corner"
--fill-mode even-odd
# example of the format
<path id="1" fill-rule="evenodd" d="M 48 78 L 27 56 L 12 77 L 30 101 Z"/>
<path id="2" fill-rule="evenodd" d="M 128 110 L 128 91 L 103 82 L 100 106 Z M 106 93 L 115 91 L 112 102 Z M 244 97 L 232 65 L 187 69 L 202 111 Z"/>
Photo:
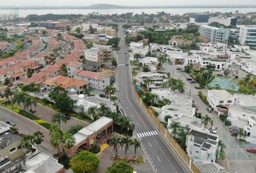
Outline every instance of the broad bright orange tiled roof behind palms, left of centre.
<path id="1" fill-rule="evenodd" d="M 77 86 L 77 87 L 84 86 L 88 84 L 88 81 L 81 81 L 81 80 L 72 79 L 69 77 L 59 75 L 54 78 L 46 80 L 44 83 L 50 86 L 53 86 L 54 84 L 59 84 L 62 87 L 64 87 L 64 89 L 67 89 L 70 86 Z"/>

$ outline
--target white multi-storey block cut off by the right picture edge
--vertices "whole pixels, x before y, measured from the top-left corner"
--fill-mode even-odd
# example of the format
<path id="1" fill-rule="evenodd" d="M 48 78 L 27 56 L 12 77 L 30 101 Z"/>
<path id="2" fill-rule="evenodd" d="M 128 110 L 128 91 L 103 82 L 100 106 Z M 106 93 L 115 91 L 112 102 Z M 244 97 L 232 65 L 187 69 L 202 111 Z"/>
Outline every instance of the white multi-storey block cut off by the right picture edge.
<path id="1" fill-rule="evenodd" d="M 256 25 L 240 26 L 239 42 L 242 45 L 256 46 Z"/>

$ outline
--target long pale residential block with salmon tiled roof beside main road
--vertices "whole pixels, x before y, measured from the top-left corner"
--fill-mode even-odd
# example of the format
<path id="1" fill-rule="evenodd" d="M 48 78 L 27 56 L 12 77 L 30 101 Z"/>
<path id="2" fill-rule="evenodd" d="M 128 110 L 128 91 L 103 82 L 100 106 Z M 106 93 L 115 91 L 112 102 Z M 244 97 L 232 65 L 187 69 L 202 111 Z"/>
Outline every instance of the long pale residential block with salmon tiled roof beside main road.
<path id="1" fill-rule="evenodd" d="M 110 77 L 93 71 L 75 71 L 74 79 L 89 81 L 89 86 L 93 89 L 103 90 L 110 85 Z"/>

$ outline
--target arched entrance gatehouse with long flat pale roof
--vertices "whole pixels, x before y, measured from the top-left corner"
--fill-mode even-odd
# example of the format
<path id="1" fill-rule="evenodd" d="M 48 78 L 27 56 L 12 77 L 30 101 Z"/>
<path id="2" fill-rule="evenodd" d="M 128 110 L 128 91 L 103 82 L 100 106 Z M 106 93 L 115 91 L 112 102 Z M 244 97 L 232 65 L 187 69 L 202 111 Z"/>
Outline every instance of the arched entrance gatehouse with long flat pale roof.
<path id="1" fill-rule="evenodd" d="M 74 134 L 75 144 L 69 149 L 69 156 L 74 156 L 80 150 L 89 150 L 101 139 L 108 138 L 108 133 L 112 132 L 113 120 L 109 117 L 101 117 Z"/>

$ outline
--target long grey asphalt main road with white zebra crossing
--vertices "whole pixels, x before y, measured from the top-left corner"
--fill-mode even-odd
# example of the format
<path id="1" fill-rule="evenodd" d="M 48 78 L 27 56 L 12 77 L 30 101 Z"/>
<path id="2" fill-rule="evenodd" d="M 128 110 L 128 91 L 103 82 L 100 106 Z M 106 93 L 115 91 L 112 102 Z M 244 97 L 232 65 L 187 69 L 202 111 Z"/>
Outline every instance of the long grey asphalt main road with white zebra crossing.
<path id="1" fill-rule="evenodd" d="M 120 29 L 119 37 L 124 37 L 124 30 Z M 135 101 L 132 94 L 132 81 L 129 66 L 126 65 L 129 57 L 124 53 L 127 45 L 124 40 L 119 43 L 118 67 L 116 69 L 116 86 L 120 91 L 117 93 L 119 102 L 125 114 L 135 124 L 135 136 L 142 142 L 145 154 L 155 172 L 161 173 L 182 173 L 186 172 L 174 154 L 159 136 L 160 131 L 150 123 L 142 108 Z M 144 136 L 144 137 L 143 137 Z"/>

